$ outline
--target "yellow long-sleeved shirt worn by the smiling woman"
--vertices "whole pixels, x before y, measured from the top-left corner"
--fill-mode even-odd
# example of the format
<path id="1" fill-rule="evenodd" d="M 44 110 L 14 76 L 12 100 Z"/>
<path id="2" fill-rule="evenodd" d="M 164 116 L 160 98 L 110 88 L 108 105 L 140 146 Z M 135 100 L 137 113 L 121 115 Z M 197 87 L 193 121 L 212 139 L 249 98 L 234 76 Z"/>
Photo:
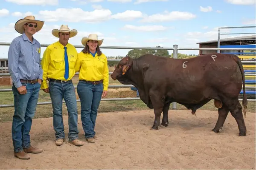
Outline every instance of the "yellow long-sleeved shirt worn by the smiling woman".
<path id="1" fill-rule="evenodd" d="M 78 53 L 76 60 L 75 71 L 79 71 L 79 79 L 87 81 L 103 80 L 103 90 L 108 90 L 109 74 L 108 74 L 108 60 L 105 54 L 84 54 Z"/>

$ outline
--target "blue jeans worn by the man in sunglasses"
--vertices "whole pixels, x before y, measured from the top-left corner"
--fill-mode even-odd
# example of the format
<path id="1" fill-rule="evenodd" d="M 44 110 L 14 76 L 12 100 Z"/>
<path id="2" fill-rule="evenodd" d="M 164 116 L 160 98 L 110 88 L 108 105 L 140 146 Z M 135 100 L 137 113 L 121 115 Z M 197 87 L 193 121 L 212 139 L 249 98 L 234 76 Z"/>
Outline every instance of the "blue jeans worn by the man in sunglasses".
<path id="1" fill-rule="evenodd" d="M 35 116 L 35 110 L 38 102 L 38 96 L 41 85 L 37 82 L 21 83 L 26 86 L 27 93 L 20 94 L 12 85 L 14 95 L 14 115 L 12 117 L 12 142 L 14 152 L 21 152 L 30 147 L 30 129 L 32 118 Z"/>

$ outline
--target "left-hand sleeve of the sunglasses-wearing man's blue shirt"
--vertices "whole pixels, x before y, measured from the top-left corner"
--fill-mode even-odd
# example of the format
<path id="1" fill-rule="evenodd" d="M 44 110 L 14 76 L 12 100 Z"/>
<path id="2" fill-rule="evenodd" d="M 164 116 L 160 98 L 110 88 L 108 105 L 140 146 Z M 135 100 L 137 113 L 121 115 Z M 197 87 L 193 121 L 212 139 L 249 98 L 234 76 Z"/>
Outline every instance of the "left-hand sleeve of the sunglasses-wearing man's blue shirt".
<path id="1" fill-rule="evenodd" d="M 18 40 L 13 40 L 10 44 L 8 51 L 8 70 L 12 78 L 12 82 L 16 88 L 22 86 L 20 82 L 20 77 L 18 73 L 18 64 L 19 64 L 19 53 L 20 45 Z"/>

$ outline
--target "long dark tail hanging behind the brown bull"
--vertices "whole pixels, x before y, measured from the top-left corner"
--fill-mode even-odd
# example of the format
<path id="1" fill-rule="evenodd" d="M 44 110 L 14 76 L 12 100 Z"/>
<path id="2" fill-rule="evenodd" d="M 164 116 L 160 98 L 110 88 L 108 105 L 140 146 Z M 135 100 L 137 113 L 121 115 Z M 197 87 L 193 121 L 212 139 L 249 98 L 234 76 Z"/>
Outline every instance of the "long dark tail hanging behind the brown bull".
<path id="1" fill-rule="evenodd" d="M 239 57 L 237 57 L 236 55 L 233 56 L 234 60 L 237 62 L 241 74 L 242 74 L 242 80 L 243 80 L 243 101 L 242 101 L 242 105 L 243 105 L 243 112 L 244 112 L 244 117 L 246 117 L 246 112 L 247 112 L 247 96 L 245 94 L 245 77 L 244 77 L 244 68 L 243 68 L 243 64 L 241 62 L 241 59 L 239 59 Z"/>

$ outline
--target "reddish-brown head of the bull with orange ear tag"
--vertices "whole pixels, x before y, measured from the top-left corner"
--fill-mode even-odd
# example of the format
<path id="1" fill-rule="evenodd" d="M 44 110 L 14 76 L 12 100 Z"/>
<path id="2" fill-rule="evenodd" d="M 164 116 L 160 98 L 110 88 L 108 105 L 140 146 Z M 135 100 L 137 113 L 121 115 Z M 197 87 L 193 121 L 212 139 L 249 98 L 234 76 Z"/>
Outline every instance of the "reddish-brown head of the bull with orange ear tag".
<path id="1" fill-rule="evenodd" d="M 118 64 L 116 65 L 115 70 L 111 74 L 111 78 L 113 80 L 120 79 L 124 76 L 124 74 L 128 71 L 129 68 L 132 66 L 132 59 L 129 56 L 124 57 L 121 59 Z"/>

